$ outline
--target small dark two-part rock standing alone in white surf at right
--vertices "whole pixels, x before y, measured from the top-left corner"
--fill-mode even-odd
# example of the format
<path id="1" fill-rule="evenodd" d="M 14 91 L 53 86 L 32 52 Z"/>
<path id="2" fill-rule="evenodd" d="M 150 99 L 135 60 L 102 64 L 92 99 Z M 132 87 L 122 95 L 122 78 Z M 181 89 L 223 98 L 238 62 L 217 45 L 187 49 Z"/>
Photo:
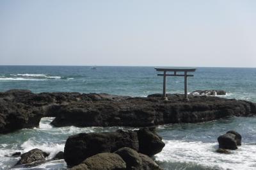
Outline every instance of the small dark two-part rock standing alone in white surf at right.
<path id="1" fill-rule="evenodd" d="M 219 148 L 227 150 L 236 150 L 237 146 L 241 146 L 241 135 L 234 130 L 230 130 L 227 134 L 218 137 Z"/>

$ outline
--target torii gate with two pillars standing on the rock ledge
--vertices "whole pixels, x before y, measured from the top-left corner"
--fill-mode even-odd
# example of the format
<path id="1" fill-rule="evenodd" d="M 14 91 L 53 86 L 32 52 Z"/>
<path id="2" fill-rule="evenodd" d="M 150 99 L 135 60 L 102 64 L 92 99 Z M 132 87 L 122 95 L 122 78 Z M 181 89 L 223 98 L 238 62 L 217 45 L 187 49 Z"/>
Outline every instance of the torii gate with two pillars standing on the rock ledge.
<path id="1" fill-rule="evenodd" d="M 187 77 L 193 77 L 194 75 L 188 74 L 188 72 L 195 72 L 196 68 L 159 68 L 155 67 L 157 72 L 163 72 L 159 73 L 157 75 L 163 76 L 163 98 L 167 100 L 166 97 L 166 76 L 183 76 L 184 77 L 184 99 L 188 100 L 188 80 Z M 168 74 L 166 72 L 173 72 L 173 74 Z M 184 74 L 177 74 L 177 72 L 184 72 Z"/>

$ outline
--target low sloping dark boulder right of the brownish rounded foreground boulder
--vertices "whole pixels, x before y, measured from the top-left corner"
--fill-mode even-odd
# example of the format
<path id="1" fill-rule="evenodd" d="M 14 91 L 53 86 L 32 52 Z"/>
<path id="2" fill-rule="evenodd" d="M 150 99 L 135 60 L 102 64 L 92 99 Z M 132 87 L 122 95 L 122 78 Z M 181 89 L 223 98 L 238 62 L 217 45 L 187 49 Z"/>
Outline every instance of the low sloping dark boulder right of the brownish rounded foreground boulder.
<path id="1" fill-rule="evenodd" d="M 115 151 L 126 163 L 127 170 L 160 170 L 161 168 L 147 155 L 138 153 L 131 148 L 121 148 Z"/>

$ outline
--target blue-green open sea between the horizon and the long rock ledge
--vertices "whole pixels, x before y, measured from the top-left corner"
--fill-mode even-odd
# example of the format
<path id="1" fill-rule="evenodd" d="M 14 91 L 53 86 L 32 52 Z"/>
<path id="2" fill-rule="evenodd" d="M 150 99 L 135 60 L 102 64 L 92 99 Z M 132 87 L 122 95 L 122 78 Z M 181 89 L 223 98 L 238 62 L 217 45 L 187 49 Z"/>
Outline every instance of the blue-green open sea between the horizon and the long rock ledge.
<path id="1" fill-rule="evenodd" d="M 163 77 L 142 66 L 0 66 L 0 91 L 77 91 L 147 96 L 162 92 Z M 197 68 L 188 90 L 223 89 L 228 97 L 256 101 L 256 68 Z M 184 78 L 168 77 L 168 93 L 183 93 Z"/>

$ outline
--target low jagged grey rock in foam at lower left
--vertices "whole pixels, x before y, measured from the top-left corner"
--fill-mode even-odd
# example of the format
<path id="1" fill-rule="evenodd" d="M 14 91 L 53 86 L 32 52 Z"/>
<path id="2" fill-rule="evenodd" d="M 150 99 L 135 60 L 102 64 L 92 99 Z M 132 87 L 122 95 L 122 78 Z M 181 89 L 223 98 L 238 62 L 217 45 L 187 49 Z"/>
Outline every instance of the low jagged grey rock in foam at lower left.
<path id="1" fill-rule="evenodd" d="M 32 162 L 40 162 L 42 164 L 45 162 L 44 151 L 39 149 L 33 149 L 26 153 L 20 155 L 20 160 L 17 162 L 16 166 L 22 164 L 31 164 Z"/>

